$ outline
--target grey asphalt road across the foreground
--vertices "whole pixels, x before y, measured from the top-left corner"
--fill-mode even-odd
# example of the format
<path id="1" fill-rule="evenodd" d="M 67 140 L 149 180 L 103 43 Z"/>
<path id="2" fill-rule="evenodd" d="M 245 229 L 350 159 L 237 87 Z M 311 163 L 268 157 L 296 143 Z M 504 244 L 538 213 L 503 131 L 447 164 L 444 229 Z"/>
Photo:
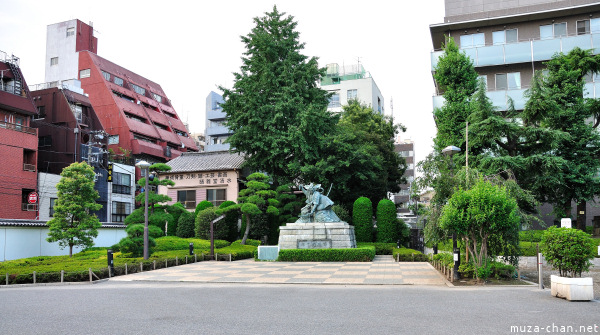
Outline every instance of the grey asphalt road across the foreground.
<path id="1" fill-rule="evenodd" d="M 1 334 L 518 333 L 511 326 L 600 333 L 600 302 L 568 302 L 530 287 L 102 282 L 0 289 Z M 567 326 L 575 331 L 560 332 Z"/>

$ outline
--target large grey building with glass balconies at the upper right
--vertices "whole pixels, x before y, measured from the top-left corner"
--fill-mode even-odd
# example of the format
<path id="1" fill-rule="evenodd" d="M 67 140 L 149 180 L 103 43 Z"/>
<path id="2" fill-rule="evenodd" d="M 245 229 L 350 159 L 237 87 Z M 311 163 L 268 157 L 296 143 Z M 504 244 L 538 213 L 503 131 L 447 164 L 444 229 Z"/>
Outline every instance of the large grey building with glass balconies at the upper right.
<path id="1" fill-rule="evenodd" d="M 452 37 L 469 56 L 475 70 L 487 84 L 487 96 L 498 110 L 506 110 L 508 98 L 516 110 L 525 107 L 525 91 L 535 71 L 555 53 L 568 53 L 575 47 L 600 53 L 600 3 L 591 0 L 482 0 L 445 1 L 443 23 L 430 26 L 434 51 L 431 70 L 443 54 L 445 36 Z M 437 88 L 437 86 L 436 86 Z M 585 97 L 600 97 L 597 75 L 588 76 Z M 444 103 L 439 89 L 433 106 Z M 586 225 L 600 210 L 588 202 Z M 573 206 L 574 207 L 574 206 Z M 547 226 L 557 218 L 542 206 L 541 218 Z"/>

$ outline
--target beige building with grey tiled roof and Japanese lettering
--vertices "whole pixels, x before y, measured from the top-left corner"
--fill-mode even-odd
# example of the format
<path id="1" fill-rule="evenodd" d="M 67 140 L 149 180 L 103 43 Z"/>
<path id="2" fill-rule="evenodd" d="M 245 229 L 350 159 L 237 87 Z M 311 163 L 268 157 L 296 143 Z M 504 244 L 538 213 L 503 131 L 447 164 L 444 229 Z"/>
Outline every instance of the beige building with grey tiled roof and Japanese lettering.
<path id="1" fill-rule="evenodd" d="M 159 178 L 172 180 L 174 186 L 159 186 L 158 193 L 182 203 L 193 211 L 203 200 L 219 206 L 224 201 L 236 201 L 240 190 L 243 156 L 226 151 L 190 152 L 169 161 L 171 171 Z"/>

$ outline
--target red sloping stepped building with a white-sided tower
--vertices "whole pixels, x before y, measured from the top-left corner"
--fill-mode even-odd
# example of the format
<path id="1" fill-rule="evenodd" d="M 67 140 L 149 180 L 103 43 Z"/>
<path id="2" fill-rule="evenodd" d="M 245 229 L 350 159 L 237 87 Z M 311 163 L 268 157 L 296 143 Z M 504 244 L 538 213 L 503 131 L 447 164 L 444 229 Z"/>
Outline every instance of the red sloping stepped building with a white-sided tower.
<path id="1" fill-rule="evenodd" d="M 49 25 L 46 81 L 83 90 L 109 135 L 108 148 L 152 163 L 198 151 L 161 86 L 98 56 L 97 45 L 91 25 Z"/>

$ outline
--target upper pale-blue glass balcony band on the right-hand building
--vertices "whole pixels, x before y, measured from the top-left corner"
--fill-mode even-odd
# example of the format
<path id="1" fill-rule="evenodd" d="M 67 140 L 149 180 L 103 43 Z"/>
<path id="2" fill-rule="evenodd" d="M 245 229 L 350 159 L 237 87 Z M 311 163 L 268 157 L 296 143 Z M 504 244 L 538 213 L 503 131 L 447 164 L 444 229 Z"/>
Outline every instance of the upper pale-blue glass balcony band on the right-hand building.
<path id="1" fill-rule="evenodd" d="M 600 34 L 563 36 L 544 40 L 461 48 L 461 51 L 464 51 L 473 60 L 475 67 L 481 67 L 547 61 L 556 52 L 568 53 L 575 47 L 584 50 L 593 49 L 594 54 L 600 53 Z M 431 53 L 431 71 L 435 71 L 438 59 L 443 53 L 443 50 Z"/>

